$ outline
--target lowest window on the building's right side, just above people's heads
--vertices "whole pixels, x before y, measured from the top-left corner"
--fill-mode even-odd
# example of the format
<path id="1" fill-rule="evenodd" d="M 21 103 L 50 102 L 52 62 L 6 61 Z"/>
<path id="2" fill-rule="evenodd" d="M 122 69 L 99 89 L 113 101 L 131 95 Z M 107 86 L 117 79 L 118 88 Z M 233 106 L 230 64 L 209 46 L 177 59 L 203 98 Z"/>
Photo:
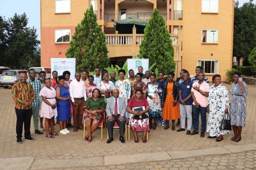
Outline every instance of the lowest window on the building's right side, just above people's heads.
<path id="1" fill-rule="evenodd" d="M 205 74 L 218 74 L 219 60 L 197 60 L 197 66 L 203 68 Z"/>

